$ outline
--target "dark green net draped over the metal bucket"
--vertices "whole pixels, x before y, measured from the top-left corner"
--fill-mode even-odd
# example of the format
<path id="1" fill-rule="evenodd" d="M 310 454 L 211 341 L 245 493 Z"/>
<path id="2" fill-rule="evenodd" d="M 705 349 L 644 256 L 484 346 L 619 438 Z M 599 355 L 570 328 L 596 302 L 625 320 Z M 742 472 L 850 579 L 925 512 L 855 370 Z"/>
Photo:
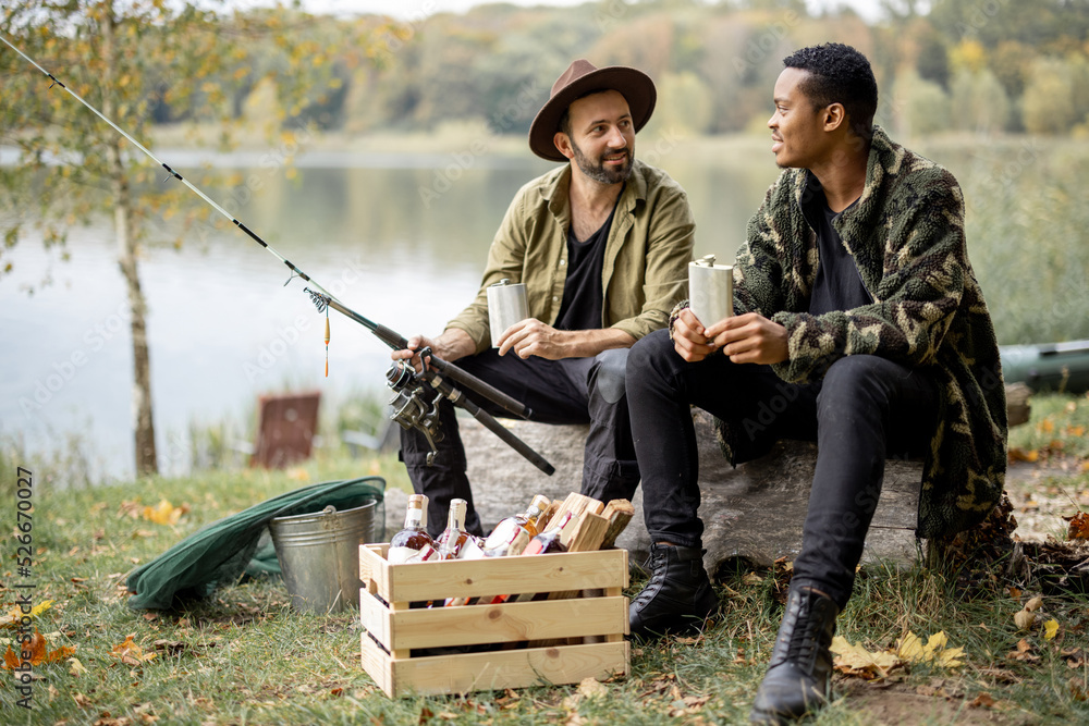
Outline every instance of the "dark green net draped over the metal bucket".
<path id="1" fill-rule="evenodd" d="M 364 477 L 310 484 L 230 515 L 185 538 L 129 575 L 129 607 L 166 610 L 180 600 L 205 598 L 244 573 L 279 573 L 271 543 L 261 543 L 276 517 L 339 510 L 376 502 L 375 521 L 384 529 L 386 480 Z M 382 538 L 384 531 L 376 534 Z M 262 544 L 258 552 L 258 544 Z"/>

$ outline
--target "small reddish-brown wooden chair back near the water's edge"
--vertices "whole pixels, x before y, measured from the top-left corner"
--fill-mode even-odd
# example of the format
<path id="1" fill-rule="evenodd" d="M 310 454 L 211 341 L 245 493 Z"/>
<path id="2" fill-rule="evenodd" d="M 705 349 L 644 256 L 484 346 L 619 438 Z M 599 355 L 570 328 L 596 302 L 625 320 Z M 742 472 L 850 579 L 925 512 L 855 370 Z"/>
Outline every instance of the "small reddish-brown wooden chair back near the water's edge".
<path id="1" fill-rule="evenodd" d="M 318 429 L 320 401 L 320 391 L 258 398 L 257 441 L 249 466 L 282 469 L 309 458 Z"/>

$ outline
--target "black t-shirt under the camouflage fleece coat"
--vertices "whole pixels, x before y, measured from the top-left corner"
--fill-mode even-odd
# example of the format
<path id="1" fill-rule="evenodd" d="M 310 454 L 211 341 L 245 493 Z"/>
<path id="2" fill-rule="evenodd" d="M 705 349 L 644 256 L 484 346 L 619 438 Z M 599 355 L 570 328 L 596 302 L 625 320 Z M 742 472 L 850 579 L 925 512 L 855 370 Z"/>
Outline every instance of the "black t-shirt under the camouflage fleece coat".
<path id="1" fill-rule="evenodd" d="M 817 280 L 809 297 L 810 315 L 869 305 L 873 300 L 858 274 L 855 258 L 847 251 L 840 233 L 832 225 L 832 221 L 842 212 L 832 211 L 824 189 L 811 174 L 802 199 L 802 212 L 817 233 Z"/>

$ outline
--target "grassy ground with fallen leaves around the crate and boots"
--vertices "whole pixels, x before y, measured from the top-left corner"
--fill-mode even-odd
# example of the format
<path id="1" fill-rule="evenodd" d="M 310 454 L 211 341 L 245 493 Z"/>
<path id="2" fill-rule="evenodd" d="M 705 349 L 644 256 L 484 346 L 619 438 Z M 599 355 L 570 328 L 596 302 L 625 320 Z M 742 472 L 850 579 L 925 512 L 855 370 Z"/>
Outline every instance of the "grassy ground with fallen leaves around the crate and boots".
<path id="1" fill-rule="evenodd" d="M 1033 399 L 1033 420 L 1027 427 L 1048 417 L 1060 430 L 1077 426 L 1089 408 L 1082 402 L 1065 396 L 1041 398 L 1038 405 Z M 1023 435 L 1035 434 L 1016 433 Z M 1072 448 L 1074 442 L 1064 454 L 1069 456 Z M 0 458 L 9 477 L 10 454 Z M 35 625 L 50 650 L 72 647 L 75 652 L 35 668 L 39 679 L 33 684 L 33 711 L 14 705 L 20 697 L 10 678 L 0 681 L 0 719 L 565 726 L 746 721 L 781 616 L 782 568 L 752 573 L 739 563 L 724 573 L 718 589 L 722 608 L 713 624 L 696 638 L 633 643 L 631 676 L 605 682 L 603 697 L 577 686 L 541 686 L 387 699 L 359 666 L 357 616 L 296 613 L 279 581 L 234 585 L 171 612 L 125 606 L 125 574 L 203 525 L 302 483 L 366 473 L 403 485 L 394 456 L 321 456 L 285 472 L 215 471 L 77 490 L 61 490 L 44 470 L 40 478 L 36 473 L 33 578 L 19 577 L 16 543 L 5 540 L 0 601 L 8 612 L 20 592 L 15 586 L 35 582 L 35 602 L 54 601 Z M 1089 475 L 1072 475 L 1070 485 L 1089 488 Z M 8 489 L 3 497 L 3 521 L 11 531 L 15 497 Z M 187 514 L 173 526 L 145 519 L 140 507 L 162 499 L 187 504 Z M 977 570 L 967 587 L 963 577 L 946 579 L 921 566 L 862 569 L 839 635 L 879 651 L 908 630 L 923 639 L 944 631 L 950 647 L 964 648 L 965 662 L 955 669 L 897 668 L 876 682 L 837 676 L 837 697 L 816 723 L 1059 724 L 1089 718 L 1089 578 L 1011 580 L 1004 569 L 1000 557 Z M 633 582 L 628 594 L 641 585 Z M 1023 631 L 1014 624 L 1014 614 L 1040 593 L 1045 593 L 1040 620 L 1059 624 L 1052 640 L 1040 627 Z M 125 662 L 113 654 L 129 636 L 142 654 L 155 657 L 131 655 Z M 14 630 L 0 630 L 0 648 L 14 637 Z"/>

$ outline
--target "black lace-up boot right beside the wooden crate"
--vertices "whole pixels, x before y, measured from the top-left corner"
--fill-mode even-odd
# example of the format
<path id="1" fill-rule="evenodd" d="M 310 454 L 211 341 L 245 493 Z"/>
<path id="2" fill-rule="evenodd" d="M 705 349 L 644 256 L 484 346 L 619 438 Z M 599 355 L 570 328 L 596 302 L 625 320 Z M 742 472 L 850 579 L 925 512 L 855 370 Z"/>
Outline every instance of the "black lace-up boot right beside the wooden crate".
<path id="1" fill-rule="evenodd" d="M 633 638 L 697 629 L 718 607 L 719 599 L 703 569 L 699 547 L 650 545 L 650 582 L 628 607 Z"/>

